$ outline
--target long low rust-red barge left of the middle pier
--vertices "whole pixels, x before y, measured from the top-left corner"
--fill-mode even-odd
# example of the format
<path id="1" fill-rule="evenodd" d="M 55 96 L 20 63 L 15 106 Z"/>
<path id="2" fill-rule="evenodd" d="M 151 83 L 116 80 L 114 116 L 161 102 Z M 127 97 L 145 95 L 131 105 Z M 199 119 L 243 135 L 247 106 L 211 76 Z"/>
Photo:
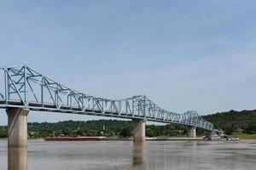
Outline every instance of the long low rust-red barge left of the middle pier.
<path id="1" fill-rule="evenodd" d="M 70 136 L 64 136 L 64 137 L 47 137 L 44 140 L 45 141 L 100 141 L 102 139 L 106 139 L 104 136 L 83 136 L 83 137 L 70 137 Z"/>

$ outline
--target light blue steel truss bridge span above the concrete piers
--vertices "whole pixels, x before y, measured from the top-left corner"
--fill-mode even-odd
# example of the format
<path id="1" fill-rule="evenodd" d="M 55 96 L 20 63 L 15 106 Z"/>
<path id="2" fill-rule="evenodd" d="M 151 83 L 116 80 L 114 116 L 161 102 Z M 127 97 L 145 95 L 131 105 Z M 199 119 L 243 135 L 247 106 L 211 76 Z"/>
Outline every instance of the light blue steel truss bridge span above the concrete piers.
<path id="1" fill-rule="evenodd" d="M 0 68 L 0 108 L 138 118 L 213 131 L 212 123 L 205 121 L 196 111 L 183 114 L 165 111 L 144 95 L 115 100 L 83 94 L 45 77 L 26 65 Z"/>

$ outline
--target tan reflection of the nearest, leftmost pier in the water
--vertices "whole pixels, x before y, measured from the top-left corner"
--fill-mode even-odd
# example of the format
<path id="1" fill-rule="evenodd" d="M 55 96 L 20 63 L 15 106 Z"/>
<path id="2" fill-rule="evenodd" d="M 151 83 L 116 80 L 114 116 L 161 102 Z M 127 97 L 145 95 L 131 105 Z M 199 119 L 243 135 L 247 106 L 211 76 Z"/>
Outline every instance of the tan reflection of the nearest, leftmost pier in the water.
<path id="1" fill-rule="evenodd" d="M 8 170 L 27 169 L 27 149 L 9 147 L 8 149 Z"/>

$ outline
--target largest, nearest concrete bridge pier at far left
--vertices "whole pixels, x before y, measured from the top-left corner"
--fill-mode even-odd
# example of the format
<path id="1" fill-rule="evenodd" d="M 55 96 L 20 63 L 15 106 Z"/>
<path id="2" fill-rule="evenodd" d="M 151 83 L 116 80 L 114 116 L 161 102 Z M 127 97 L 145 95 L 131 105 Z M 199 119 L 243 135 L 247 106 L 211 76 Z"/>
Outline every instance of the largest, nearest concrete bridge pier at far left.
<path id="1" fill-rule="evenodd" d="M 27 146 L 27 109 L 7 109 L 8 115 L 8 146 Z"/>

